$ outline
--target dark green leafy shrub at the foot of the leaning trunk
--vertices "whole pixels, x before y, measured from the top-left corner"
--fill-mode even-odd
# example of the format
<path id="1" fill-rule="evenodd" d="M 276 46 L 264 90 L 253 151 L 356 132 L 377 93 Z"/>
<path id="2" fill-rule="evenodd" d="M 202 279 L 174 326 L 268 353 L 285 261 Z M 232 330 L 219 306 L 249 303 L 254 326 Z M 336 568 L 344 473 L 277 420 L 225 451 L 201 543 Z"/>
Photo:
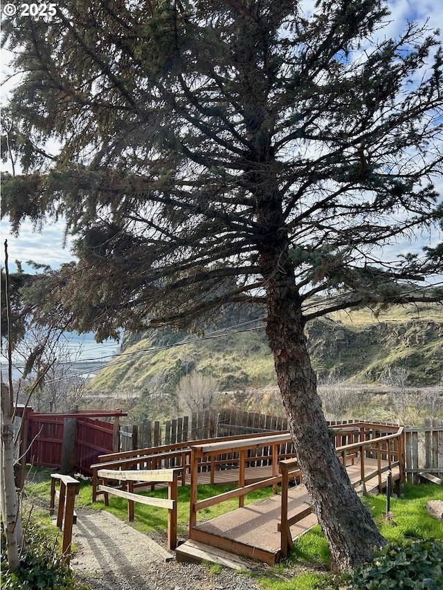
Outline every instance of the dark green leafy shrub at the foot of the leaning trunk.
<path id="1" fill-rule="evenodd" d="M 388 544 L 352 575 L 353 590 L 441 590 L 443 543 L 427 539 Z"/>

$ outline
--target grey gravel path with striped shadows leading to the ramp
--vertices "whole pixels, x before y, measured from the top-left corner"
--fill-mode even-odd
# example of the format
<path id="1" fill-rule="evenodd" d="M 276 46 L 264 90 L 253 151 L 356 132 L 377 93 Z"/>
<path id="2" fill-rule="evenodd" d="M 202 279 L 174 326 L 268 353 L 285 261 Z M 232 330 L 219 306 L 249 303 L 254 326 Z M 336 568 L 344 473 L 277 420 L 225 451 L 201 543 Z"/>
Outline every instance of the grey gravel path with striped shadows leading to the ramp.
<path id="1" fill-rule="evenodd" d="M 105 510 L 77 510 L 71 566 L 92 590 L 258 590 L 250 576 L 178 563 L 156 542 Z"/>

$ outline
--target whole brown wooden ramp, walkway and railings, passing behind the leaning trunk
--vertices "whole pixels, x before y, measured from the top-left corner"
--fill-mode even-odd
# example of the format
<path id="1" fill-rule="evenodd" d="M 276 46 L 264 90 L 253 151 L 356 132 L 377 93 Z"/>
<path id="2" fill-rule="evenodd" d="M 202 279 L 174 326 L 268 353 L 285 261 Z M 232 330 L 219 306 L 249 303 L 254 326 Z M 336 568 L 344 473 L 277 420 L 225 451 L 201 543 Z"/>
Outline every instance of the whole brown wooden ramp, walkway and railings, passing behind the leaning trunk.
<path id="1" fill-rule="evenodd" d="M 337 456 L 347 465 L 350 479 L 359 492 L 383 490 L 389 469 L 397 486 L 404 481 L 404 427 L 362 422 L 333 425 L 330 430 Z M 292 540 L 316 523 L 306 488 L 302 485 L 289 488 L 291 481 L 301 478 L 289 432 L 174 443 L 158 452 L 150 448 L 127 451 L 100 457 L 100 463 L 91 468 L 93 500 L 104 494 L 107 504 L 108 496 L 114 493 L 127 498 L 129 519 L 134 516 L 134 501 L 142 501 L 134 493 L 136 489 L 149 481 L 151 486 L 169 481 L 161 477 L 155 481 L 144 480 L 141 474 L 158 475 L 171 469 L 181 473 L 168 500 L 176 506 L 177 484 L 190 483 L 189 541 L 177 548 L 177 559 L 182 561 L 195 560 L 195 555 L 187 553 L 190 544 L 199 544 L 200 556 L 206 544 L 212 546 L 211 551 L 225 553 L 219 562 L 224 563 L 228 559 L 226 553 L 231 552 L 274 564 L 287 555 Z M 120 481 L 120 485 L 114 487 L 113 481 Z M 198 484 L 207 483 L 218 484 L 221 489 L 212 497 L 199 499 Z M 235 489 L 226 491 L 223 486 Z M 245 495 L 268 486 L 273 487 L 272 497 L 244 507 Z M 237 510 L 201 522 L 201 510 L 233 498 L 238 498 Z M 170 526 L 171 530 L 172 525 L 177 526 L 175 519 L 170 521 L 168 531 Z"/>

